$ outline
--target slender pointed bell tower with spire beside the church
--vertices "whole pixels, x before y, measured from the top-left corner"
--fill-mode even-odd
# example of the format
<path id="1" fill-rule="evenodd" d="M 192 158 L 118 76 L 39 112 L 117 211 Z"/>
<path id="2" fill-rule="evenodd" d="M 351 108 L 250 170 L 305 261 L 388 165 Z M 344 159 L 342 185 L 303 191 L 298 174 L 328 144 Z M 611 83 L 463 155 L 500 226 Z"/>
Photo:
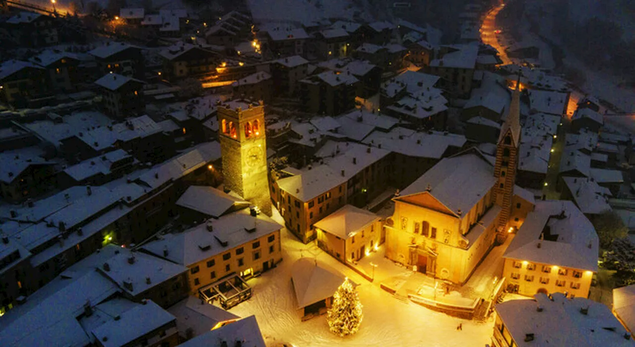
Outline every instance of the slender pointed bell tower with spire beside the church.
<path id="1" fill-rule="evenodd" d="M 494 176 L 497 178 L 494 187 L 495 203 L 503 210 L 498 218 L 498 232 L 506 233 L 505 226 L 511 214 L 512 196 L 516 184 L 518 168 L 518 147 L 520 145 L 520 75 L 516 89 L 512 92 L 512 101 L 507 112 L 507 119 L 500 129 L 500 137 L 496 148 L 496 164 Z"/>

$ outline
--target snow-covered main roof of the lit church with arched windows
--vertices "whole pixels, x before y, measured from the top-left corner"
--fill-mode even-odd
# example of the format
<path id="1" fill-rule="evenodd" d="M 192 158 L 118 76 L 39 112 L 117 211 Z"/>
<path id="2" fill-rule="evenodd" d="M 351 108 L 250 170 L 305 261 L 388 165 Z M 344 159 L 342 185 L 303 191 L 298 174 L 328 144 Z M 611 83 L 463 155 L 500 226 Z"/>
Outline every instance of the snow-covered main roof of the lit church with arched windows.
<path id="1" fill-rule="evenodd" d="M 453 213 L 467 213 L 496 183 L 493 173 L 493 166 L 478 150 L 464 152 L 442 159 L 396 199 L 429 193 Z"/>

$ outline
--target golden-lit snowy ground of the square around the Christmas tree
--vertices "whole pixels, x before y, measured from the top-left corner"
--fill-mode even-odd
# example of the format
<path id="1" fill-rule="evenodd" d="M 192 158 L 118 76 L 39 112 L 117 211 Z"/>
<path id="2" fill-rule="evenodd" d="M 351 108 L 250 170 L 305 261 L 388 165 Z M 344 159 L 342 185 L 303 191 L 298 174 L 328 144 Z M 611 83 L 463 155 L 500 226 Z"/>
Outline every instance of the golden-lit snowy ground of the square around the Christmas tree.
<path id="1" fill-rule="evenodd" d="M 274 212 L 274 219 L 283 220 Z M 286 342 L 295 346 L 485 346 L 490 343 L 493 324 L 479 324 L 428 310 L 410 301 L 401 301 L 371 284 L 351 269 L 321 251 L 314 242 L 304 245 L 286 229 L 282 231 L 284 260 L 273 270 L 248 283 L 253 287 L 250 300 L 238 304 L 231 313 L 256 315 L 265 341 Z M 291 289 L 291 265 L 300 257 L 314 257 L 333 266 L 360 284 L 359 298 L 364 319 L 357 334 L 340 338 L 328 331 L 326 316 L 301 322 L 295 310 Z M 403 270 L 403 269 L 401 269 Z M 463 330 L 457 325 L 463 323 Z"/>

